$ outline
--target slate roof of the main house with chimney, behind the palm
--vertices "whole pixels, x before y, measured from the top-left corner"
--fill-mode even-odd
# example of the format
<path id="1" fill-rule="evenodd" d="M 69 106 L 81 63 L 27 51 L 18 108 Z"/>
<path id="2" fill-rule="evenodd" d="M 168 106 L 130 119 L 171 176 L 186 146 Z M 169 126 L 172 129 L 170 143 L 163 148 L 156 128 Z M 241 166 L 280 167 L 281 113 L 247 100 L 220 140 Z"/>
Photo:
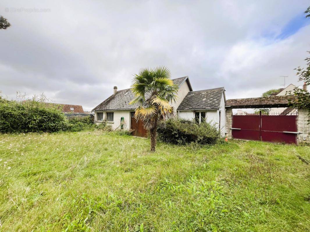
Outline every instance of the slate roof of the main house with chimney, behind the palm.
<path id="1" fill-rule="evenodd" d="M 187 76 L 176 78 L 176 79 L 173 79 L 173 83 L 180 85 L 186 79 L 188 79 Z M 189 82 L 188 82 L 188 84 L 189 84 Z M 119 90 L 115 94 L 111 95 L 106 100 L 101 102 L 99 105 L 97 105 L 93 110 L 132 110 L 132 109 L 136 109 L 139 105 L 137 105 L 137 104 L 136 105 L 129 105 L 129 102 L 131 102 L 134 99 L 134 97 L 135 97 L 135 95 L 131 91 L 130 88 Z M 148 94 L 146 93 L 145 98 L 147 98 L 147 97 L 148 97 Z"/>

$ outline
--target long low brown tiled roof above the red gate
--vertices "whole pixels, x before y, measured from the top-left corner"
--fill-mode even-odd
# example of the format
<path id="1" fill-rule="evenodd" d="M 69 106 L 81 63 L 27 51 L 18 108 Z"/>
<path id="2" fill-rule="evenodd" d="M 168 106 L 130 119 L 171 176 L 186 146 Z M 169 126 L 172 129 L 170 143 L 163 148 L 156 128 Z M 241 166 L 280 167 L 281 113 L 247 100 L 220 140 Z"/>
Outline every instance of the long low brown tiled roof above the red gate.
<path id="1" fill-rule="evenodd" d="M 276 108 L 287 107 L 290 101 L 297 101 L 297 97 L 294 95 L 275 96 L 275 97 L 251 97 L 251 98 L 239 98 L 228 99 L 226 102 L 226 108 Z"/>

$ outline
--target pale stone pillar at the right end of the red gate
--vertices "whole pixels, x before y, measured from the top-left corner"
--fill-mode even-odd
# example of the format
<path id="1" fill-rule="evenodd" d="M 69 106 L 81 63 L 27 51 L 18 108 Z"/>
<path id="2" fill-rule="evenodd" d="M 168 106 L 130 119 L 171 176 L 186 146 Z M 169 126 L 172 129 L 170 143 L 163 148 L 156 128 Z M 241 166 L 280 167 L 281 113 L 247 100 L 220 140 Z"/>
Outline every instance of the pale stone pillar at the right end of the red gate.
<path id="1" fill-rule="evenodd" d="M 310 124 L 308 124 L 308 119 L 308 109 L 298 109 L 297 132 L 300 133 L 297 136 L 298 144 L 310 143 Z"/>

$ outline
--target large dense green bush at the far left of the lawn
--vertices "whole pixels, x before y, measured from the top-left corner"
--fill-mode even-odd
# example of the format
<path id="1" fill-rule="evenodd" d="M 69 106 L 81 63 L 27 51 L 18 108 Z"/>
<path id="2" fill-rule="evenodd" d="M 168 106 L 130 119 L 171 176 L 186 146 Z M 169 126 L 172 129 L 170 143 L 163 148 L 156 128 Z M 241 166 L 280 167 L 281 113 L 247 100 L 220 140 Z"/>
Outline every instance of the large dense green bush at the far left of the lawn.
<path id="1" fill-rule="evenodd" d="M 57 108 L 35 100 L 0 101 L 0 132 L 64 131 L 68 123 Z"/>

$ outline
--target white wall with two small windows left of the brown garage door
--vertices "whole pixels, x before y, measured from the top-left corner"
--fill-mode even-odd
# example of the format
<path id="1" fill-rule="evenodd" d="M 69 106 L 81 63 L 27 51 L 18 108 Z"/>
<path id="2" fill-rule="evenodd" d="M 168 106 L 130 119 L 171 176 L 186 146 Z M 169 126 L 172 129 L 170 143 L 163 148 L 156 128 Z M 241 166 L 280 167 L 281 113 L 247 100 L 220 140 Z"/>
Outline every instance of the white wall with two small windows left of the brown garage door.
<path id="1" fill-rule="evenodd" d="M 107 123 L 108 125 L 112 126 L 113 130 L 121 129 L 121 118 L 124 117 L 124 130 L 130 129 L 130 112 L 133 112 L 135 110 L 114 110 L 114 111 L 96 111 L 95 112 L 95 123 L 98 125 L 102 122 Z M 97 113 L 103 112 L 104 113 L 104 121 L 97 121 Z M 113 112 L 114 113 L 114 119 L 113 122 L 106 122 L 105 116 L 107 112 Z"/>

